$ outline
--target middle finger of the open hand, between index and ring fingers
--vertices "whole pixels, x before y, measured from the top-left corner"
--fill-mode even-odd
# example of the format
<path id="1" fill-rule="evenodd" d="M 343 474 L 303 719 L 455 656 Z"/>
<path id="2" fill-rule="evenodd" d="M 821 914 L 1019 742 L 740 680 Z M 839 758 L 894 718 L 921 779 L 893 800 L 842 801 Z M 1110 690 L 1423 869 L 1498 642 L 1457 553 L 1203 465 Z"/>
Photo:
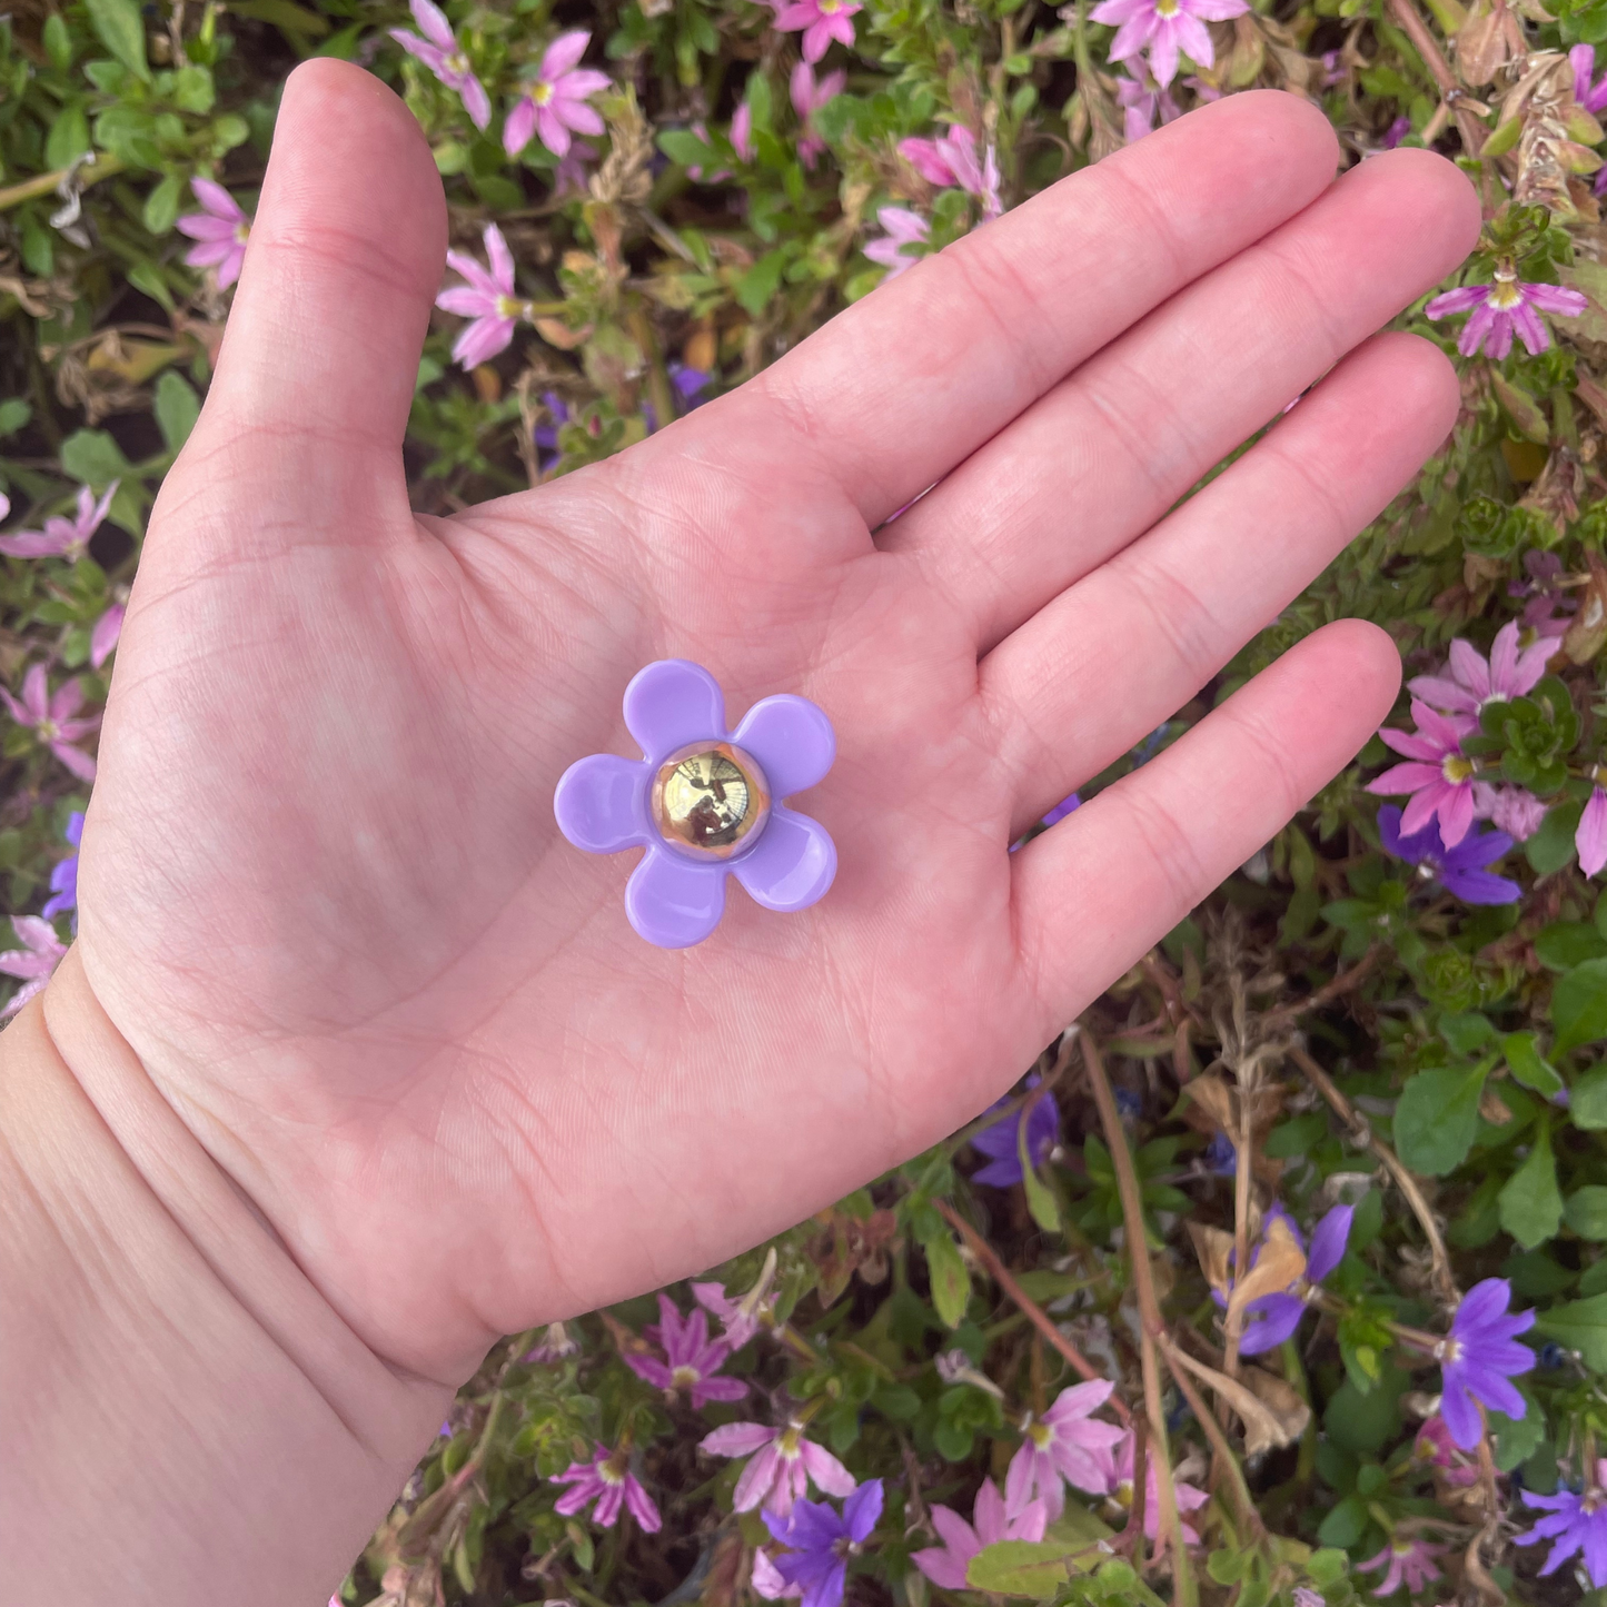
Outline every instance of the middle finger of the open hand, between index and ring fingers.
<path id="1" fill-rule="evenodd" d="M 1366 161 L 1085 362 L 879 545 L 918 561 L 985 654 L 1437 284 L 1477 233 L 1474 190 L 1445 159 Z"/>

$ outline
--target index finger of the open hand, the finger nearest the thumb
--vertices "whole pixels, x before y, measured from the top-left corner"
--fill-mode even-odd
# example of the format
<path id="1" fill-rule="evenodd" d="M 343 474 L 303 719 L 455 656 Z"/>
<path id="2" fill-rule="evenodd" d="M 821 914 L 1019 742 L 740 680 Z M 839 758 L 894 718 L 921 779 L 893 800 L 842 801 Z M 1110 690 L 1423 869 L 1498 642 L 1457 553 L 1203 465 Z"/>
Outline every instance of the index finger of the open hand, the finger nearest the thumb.
<path id="1" fill-rule="evenodd" d="M 874 527 L 1135 320 L 1308 206 L 1337 162 L 1310 101 L 1228 96 L 881 286 L 739 395 L 828 461 Z"/>

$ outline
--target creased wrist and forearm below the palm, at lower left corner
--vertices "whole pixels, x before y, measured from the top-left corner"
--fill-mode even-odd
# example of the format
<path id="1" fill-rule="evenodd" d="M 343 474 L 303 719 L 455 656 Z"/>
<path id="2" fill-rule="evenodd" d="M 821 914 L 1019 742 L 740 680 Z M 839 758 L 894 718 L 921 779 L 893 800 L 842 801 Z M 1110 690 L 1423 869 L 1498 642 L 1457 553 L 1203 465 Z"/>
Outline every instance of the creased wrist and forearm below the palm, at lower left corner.
<path id="1" fill-rule="evenodd" d="M 0 1037 L 0 1533 L 19 1607 L 328 1597 L 450 1390 L 400 1376 L 145 1075 L 69 953 Z M 21 1570 L 21 1572 L 16 1572 Z"/>

